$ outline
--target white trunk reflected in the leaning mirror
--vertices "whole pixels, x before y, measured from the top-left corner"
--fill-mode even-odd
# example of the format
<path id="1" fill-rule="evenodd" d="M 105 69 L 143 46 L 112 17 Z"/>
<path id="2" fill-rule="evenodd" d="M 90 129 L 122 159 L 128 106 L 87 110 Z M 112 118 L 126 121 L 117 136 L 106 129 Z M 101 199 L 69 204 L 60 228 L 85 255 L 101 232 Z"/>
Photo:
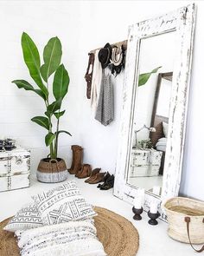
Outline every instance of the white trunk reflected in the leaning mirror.
<path id="1" fill-rule="evenodd" d="M 162 156 L 162 151 L 153 148 L 132 148 L 130 177 L 158 175 Z"/>

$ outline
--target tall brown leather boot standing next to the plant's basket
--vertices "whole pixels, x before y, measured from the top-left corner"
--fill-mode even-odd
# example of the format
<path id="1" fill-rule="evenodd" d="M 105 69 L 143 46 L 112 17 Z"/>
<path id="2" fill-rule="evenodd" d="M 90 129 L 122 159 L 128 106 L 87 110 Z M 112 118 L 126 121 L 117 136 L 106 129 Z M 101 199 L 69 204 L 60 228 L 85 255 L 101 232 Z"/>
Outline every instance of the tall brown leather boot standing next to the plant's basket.
<path id="1" fill-rule="evenodd" d="M 83 148 L 78 145 L 72 146 L 73 150 L 73 161 L 72 166 L 68 169 L 69 174 L 77 174 L 82 166 Z"/>

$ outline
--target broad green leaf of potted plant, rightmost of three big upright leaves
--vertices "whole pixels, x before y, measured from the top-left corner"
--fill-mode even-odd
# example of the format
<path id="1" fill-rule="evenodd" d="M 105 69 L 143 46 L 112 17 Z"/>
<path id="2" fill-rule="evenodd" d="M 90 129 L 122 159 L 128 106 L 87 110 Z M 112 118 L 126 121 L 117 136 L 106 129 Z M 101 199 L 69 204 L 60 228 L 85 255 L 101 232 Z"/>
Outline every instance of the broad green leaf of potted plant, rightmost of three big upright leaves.
<path id="1" fill-rule="evenodd" d="M 56 100 L 64 98 L 64 96 L 67 94 L 68 84 L 68 72 L 64 65 L 61 64 L 61 66 L 56 70 L 54 74 L 53 94 Z"/>

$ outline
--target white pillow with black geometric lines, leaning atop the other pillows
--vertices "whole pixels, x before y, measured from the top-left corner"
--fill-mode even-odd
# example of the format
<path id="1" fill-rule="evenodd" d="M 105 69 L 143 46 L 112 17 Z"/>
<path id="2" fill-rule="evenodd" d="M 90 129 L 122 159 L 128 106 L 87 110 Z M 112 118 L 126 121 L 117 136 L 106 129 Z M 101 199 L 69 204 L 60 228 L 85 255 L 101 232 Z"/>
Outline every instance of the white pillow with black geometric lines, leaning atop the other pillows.
<path id="1" fill-rule="evenodd" d="M 44 225 L 59 224 L 70 220 L 86 220 L 97 214 L 81 196 L 75 181 L 32 197 L 41 213 Z"/>

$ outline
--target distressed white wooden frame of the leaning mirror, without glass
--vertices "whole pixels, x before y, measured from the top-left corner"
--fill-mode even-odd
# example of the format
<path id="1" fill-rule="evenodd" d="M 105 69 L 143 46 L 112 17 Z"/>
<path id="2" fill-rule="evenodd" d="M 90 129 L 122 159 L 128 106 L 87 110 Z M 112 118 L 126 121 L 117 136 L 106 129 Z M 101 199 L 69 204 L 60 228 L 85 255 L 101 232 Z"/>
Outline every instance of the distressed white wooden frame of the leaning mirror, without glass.
<path id="1" fill-rule="evenodd" d="M 131 138 L 133 112 L 137 98 L 138 63 L 141 39 L 175 31 L 176 53 L 172 81 L 172 98 L 169 110 L 169 135 L 166 160 L 163 172 L 161 198 L 145 192 L 144 210 L 149 210 L 152 197 L 160 204 L 161 218 L 166 220 L 161 203 L 179 193 L 182 176 L 182 158 L 185 140 L 186 116 L 188 107 L 188 88 L 193 51 L 195 6 L 189 4 L 174 12 L 157 16 L 150 20 L 131 25 L 128 35 L 128 48 L 124 77 L 123 110 L 121 116 L 120 139 L 116 179 L 113 194 L 131 204 L 137 187 L 127 183 L 131 158 Z"/>

